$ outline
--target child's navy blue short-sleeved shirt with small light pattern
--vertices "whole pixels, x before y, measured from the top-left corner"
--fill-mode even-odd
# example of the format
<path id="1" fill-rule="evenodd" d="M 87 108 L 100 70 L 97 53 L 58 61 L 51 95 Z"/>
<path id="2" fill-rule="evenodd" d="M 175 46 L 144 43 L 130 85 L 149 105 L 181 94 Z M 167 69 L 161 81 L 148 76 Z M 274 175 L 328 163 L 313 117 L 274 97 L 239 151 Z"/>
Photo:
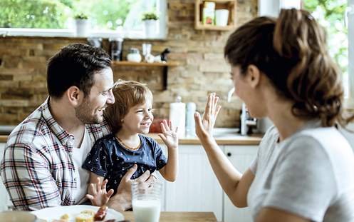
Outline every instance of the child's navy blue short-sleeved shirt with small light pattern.
<path id="1" fill-rule="evenodd" d="M 137 171 L 132 179 L 147 170 L 150 173 L 160 170 L 167 163 L 161 146 L 153 138 L 141 134 L 139 137 L 141 144 L 136 151 L 125 148 L 113 133 L 98 139 L 88 153 L 83 168 L 108 179 L 107 191 L 113 188 L 115 192 L 122 177 L 134 164 L 137 164 Z"/>

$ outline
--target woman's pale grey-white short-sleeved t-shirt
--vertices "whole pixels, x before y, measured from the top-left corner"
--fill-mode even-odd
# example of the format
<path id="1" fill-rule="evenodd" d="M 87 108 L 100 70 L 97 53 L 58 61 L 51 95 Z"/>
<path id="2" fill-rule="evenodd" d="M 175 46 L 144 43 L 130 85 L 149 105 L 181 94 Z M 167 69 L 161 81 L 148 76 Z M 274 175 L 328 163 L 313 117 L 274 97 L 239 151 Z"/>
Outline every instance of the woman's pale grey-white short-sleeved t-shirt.
<path id="1" fill-rule="evenodd" d="M 354 154 L 334 127 L 310 121 L 278 143 L 273 126 L 250 169 L 255 178 L 247 203 L 255 219 L 264 207 L 311 221 L 354 221 Z"/>

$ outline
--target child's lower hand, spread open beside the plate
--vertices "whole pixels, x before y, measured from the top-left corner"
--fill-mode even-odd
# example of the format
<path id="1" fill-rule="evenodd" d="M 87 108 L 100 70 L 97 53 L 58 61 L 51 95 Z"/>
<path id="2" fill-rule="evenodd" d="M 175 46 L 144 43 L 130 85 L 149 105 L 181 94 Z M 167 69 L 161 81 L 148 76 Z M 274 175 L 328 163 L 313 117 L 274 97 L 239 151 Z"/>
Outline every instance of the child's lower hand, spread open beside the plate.
<path id="1" fill-rule="evenodd" d="M 113 189 L 110 189 L 108 192 L 106 191 L 105 186 L 107 183 L 107 179 L 101 183 L 100 178 L 97 178 L 96 183 L 90 183 L 88 186 L 88 194 L 86 194 L 86 197 L 91 201 L 93 206 L 103 206 L 108 203 L 114 191 Z"/>

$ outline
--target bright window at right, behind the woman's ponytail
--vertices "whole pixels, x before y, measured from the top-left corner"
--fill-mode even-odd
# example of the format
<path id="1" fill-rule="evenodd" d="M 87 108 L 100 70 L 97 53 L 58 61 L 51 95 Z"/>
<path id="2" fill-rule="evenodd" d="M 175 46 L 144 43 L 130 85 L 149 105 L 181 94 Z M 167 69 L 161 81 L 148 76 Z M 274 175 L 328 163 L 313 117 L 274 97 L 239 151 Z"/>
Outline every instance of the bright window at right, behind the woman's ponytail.
<path id="1" fill-rule="evenodd" d="M 301 6 L 326 29 L 330 56 L 343 74 L 345 106 L 354 108 L 354 0 L 259 0 L 259 15 Z"/>

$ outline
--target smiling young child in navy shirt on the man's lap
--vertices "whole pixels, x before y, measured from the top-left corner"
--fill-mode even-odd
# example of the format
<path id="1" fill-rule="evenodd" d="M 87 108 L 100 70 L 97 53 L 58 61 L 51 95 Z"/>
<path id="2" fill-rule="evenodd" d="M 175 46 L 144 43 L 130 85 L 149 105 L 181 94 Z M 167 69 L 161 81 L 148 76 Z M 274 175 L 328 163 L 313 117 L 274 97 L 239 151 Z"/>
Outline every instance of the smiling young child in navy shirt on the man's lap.
<path id="1" fill-rule="evenodd" d="M 152 93 L 137 81 L 118 81 L 113 88 L 115 104 L 105 109 L 105 119 L 111 134 L 95 142 L 83 168 L 90 171 L 88 199 L 95 206 L 103 206 L 117 191 L 120 180 L 135 164 L 132 179 L 145 171 L 159 171 L 167 181 L 175 181 L 178 169 L 177 128 L 161 123 L 160 138 L 167 146 L 168 159 L 161 146 L 149 133 L 152 116 Z M 107 186 L 107 188 L 105 188 Z"/>

